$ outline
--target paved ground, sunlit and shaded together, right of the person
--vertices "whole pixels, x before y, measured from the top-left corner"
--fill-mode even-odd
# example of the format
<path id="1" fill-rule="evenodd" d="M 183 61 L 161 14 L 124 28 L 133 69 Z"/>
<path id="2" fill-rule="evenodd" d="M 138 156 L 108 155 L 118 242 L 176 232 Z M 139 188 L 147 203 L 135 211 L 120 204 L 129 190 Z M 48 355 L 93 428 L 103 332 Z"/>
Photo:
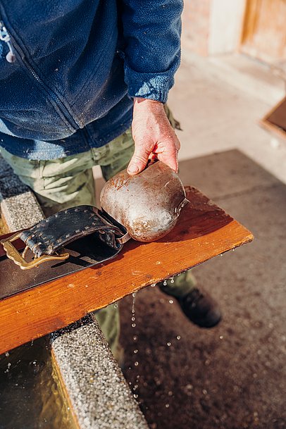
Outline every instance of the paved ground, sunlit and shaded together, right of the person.
<path id="1" fill-rule="evenodd" d="M 194 269 L 223 311 L 213 330 L 189 323 L 152 287 L 138 293 L 132 328 L 132 298 L 123 300 L 124 372 L 151 429 L 282 429 L 286 142 L 257 124 L 273 99 L 224 82 L 213 67 L 183 58 L 170 95 L 183 129 L 180 176 L 255 240 Z"/>

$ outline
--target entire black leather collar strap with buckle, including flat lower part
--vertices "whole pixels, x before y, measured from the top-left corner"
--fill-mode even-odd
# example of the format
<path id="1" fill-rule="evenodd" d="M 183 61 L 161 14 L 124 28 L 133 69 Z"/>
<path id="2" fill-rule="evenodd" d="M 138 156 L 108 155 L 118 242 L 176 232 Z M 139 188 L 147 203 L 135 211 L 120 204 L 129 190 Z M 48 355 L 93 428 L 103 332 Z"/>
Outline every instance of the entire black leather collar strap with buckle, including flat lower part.
<path id="1" fill-rule="evenodd" d="M 104 213 L 92 206 L 61 211 L 29 230 L 5 236 L 1 244 L 6 254 L 1 251 L 0 244 L 0 300 L 113 259 L 128 239 L 123 227 L 113 225 L 111 218 L 107 219 Z M 25 245 L 27 259 L 35 256 L 32 261 L 25 260 L 25 251 L 21 254 Z M 7 246 L 14 252 L 12 256 L 20 260 L 17 265 L 14 257 L 8 255 Z M 66 257 L 61 258 L 57 253 L 63 246 L 65 253 L 62 255 Z M 30 251 L 27 252 L 27 248 Z M 21 275 L 18 265 L 26 270 L 25 275 Z M 38 268 L 27 270 L 32 267 Z"/>

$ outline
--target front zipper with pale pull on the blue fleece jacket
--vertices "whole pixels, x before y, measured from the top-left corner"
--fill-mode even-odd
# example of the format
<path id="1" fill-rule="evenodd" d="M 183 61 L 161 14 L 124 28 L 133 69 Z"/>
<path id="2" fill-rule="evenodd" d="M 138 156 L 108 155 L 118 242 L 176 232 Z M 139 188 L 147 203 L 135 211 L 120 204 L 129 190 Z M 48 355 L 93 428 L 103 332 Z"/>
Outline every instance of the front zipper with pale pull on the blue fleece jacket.
<path id="1" fill-rule="evenodd" d="M 6 30 L 6 27 L 4 26 L 4 23 L 2 21 L 0 21 L 0 40 L 3 40 L 4 42 L 6 42 L 8 44 L 9 52 L 6 55 L 6 60 L 9 63 L 13 63 L 16 59 L 15 54 L 14 54 L 13 44 L 11 42 L 11 37 L 8 34 L 8 31 Z M 66 120 L 68 120 L 68 123 L 70 125 L 72 125 L 73 129 L 77 130 L 78 125 L 75 122 L 75 120 L 73 119 L 73 116 L 71 116 L 71 114 L 68 111 L 68 109 L 66 108 L 66 106 L 63 104 L 63 101 L 61 101 L 61 99 L 58 98 L 58 96 L 49 88 L 49 86 L 44 83 L 44 81 L 41 79 L 41 77 L 39 77 L 37 72 L 34 70 L 34 68 L 32 68 L 30 63 L 27 61 L 25 54 L 23 53 L 20 46 L 18 44 L 16 44 L 15 42 L 14 42 L 14 46 L 15 46 L 15 51 L 18 51 L 18 53 L 20 54 L 20 57 L 22 58 L 23 63 L 25 64 L 27 69 L 30 71 L 31 75 L 35 78 L 35 80 L 37 80 L 39 85 L 41 85 L 41 87 L 49 95 L 49 97 L 51 97 L 51 99 L 56 103 L 56 105 L 58 106 L 60 111 L 63 113 L 63 116 L 65 116 Z"/>

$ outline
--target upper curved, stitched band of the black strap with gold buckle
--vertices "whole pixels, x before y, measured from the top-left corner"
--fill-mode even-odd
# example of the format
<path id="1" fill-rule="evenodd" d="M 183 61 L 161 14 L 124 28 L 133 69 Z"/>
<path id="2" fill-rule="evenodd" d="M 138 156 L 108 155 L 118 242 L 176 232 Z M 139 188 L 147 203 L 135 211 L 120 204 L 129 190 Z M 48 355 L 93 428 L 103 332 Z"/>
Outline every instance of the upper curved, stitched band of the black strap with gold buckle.
<path id="1" fill-rule="evenodd" d="M 118 225 L 113 225 L 104 217 L 104 213 L 92 206 L 77 206 L 55 213 L 42 220 L 29 230 L 18 232 L 2 240 L 8 258 L 22 269 L 34 268 L 46 261 L 68 259 L 69 254 L 58 254 L 67 244 L 87 235 L 94 234 L 114 250 L 120 250 L 129 235 Z M 25 250 L 20 254 L 12 242 L 20 238 L 25 243 Z M 26 261 L 27 251 L 32 251 L 32 261 Z"/>

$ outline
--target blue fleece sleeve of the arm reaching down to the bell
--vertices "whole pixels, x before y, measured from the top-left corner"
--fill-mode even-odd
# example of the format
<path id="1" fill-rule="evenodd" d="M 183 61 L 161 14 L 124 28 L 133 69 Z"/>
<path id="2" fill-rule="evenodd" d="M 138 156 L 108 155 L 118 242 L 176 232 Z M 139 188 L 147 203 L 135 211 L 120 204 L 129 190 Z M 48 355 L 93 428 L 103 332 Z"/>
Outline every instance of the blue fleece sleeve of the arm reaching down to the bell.
<path id="1" fill-rule="evenodd" d="M 183 0 L 122 0 L 130 97 L 166 102 L 180 65 Z"/>

